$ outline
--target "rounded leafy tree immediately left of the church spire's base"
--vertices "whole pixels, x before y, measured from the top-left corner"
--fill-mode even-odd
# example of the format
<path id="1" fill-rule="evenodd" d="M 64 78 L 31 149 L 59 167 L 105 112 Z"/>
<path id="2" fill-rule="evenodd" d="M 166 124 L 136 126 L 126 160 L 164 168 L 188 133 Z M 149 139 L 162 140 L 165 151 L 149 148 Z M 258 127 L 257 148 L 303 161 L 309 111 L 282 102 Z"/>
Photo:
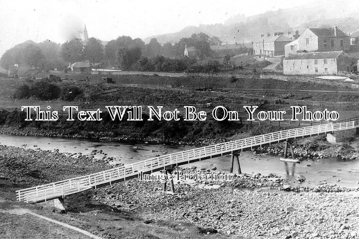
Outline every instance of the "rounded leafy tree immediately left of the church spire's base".
<path id="1" fill-rule="evenodd" d="M 73 39 L 61 45 L 60 55 L 66 62 L 78 62 L 84 60 L 83 50 L 82 41 Z"/>

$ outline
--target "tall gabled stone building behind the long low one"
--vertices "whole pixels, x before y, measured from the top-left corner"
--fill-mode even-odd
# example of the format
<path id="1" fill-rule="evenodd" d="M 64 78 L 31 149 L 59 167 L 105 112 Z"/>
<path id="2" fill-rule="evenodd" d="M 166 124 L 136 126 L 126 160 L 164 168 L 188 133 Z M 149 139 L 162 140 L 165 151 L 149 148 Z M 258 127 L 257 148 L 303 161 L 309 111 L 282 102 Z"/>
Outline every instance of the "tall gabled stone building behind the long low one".
<path id="1" fill-rule="evenodd" d="M 350 36 L 338 26 L 307 28 L 298 39 L 285 45 L 285 55 L 297 52 L 333 52 L 350 48 Z"/>

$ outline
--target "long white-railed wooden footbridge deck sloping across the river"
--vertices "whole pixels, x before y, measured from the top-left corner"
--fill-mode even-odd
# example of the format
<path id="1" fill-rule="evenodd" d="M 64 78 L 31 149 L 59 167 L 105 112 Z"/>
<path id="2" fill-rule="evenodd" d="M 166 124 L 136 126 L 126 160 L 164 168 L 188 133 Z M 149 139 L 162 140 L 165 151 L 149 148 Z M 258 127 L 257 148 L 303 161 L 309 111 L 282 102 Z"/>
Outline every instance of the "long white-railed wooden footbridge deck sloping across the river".
<path id="1" fill-rule="evenodd" d="M 111 185 L 116 182 L 132 179 L 139 176 L 141 171 L 144 174 L 151 173 L 163 170 L 169 166 L 179 166 L 230 153 L 238 153 L 243 150 L 252 149 L 252 147 L 270 145 L 295 138 L 317 136 L 332 133 L 334 131 L 353 129 L 359 127 L 358 121 L 358 117 L 356 117 L 340 123 L 328 123 L 325 125 L 294 128 L 162 155 L 122 167 L 97 172 L 95 174 L 18 190 L 16 191 L 17 200 L 25 201 L 27 203 L 36 203 L 64 197 L 92 187 L 96 188 L 98 186 Z"/>

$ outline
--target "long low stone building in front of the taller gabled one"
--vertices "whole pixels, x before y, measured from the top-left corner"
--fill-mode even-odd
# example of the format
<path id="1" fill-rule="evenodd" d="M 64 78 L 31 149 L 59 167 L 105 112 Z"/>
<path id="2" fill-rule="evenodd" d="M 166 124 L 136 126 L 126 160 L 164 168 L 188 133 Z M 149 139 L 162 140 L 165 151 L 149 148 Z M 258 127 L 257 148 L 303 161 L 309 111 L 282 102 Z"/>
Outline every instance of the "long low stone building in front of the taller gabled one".
<path id="1" fill-rule="evenodd" d="M 343 51 L 289 54 L 283 59 L 285 75 L 333 75 L 355 69 L 353 59 Z"/>

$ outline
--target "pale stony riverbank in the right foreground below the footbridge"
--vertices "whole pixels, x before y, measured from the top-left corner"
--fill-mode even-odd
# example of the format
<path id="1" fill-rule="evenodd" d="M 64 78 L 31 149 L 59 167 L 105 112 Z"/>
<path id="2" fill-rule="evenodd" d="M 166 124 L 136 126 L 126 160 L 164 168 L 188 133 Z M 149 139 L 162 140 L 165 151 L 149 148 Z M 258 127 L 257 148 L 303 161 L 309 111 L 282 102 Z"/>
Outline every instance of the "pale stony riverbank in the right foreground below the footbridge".
<path id="1" fill-rule="evenodd" d="M 358 238 L 359 188 L 294 194 L 271 189 L 281 189 L 286 183 L 276 175 L 239 175 L 229 183 L 208 182 L 220 185 L 217 189 L 202 188 L 204 182 L 182 181 L 172 195 L 162 192 L 159 182 L 134 179 L 99 188 L 94 199 L 131 211 L 145 218 L 145 223 L 185 221 L 248 238 Z"/>

